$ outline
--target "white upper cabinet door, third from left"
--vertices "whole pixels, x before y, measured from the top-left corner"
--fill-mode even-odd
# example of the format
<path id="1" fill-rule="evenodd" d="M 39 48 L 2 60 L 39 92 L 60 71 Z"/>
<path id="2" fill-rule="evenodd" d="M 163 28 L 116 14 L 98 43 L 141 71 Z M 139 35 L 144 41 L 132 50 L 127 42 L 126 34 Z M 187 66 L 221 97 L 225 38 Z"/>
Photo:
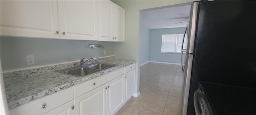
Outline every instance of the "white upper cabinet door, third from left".
<path id="1" fill-rule="evenodd" d="M 113 4 L 109 0 L 99 1 L 99 37 L 98 41 L 113 41 Z"/>

